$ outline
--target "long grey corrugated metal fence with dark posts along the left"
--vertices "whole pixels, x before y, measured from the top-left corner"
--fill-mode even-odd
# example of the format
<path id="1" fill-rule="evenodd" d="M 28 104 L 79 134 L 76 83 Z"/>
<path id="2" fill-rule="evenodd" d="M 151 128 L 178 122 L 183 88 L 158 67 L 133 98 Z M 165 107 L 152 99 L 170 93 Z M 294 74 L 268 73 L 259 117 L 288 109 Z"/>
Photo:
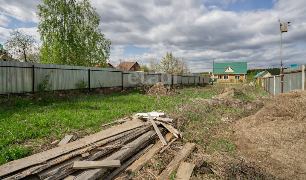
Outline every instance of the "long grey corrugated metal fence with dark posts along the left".
<path id="1" fill-rule="evenodd" d="M 112 68 L 94 68 L 57 64 L 39 64 L 0 61 L 0 94 L 37 92 L 39 84 L 50 74 L 51 90 L 77 89 L 86 82 L 89 88 L 138 87 L 163 82 L 168 85 L 210 83 L 200 74 L 178 75 L 122 71 Z"/>

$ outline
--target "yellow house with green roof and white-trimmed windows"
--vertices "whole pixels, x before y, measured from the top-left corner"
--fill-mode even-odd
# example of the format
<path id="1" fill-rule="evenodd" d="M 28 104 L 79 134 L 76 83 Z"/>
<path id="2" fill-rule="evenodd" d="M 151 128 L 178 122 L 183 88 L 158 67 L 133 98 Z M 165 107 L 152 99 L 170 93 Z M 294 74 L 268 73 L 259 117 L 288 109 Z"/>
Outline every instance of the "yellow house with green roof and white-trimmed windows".
<path id="1" fill-rule="evenodd" d="M 247 69 L 247 62 L 215 63 L 214 78 L 221 83 L 245 83 Z"/>

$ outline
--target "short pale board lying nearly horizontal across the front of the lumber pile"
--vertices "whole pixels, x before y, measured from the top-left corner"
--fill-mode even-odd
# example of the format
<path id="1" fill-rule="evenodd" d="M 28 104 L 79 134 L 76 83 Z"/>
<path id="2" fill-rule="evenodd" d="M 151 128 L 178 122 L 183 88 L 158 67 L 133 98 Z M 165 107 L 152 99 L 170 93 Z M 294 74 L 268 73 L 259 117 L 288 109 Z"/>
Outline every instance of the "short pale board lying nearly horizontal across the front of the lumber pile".
<path id="1" fill-rule="evenodd" d="M 120 160 L 74 161 L 72 169 L 92 169 L 103 167 L 120 167 Z"/>

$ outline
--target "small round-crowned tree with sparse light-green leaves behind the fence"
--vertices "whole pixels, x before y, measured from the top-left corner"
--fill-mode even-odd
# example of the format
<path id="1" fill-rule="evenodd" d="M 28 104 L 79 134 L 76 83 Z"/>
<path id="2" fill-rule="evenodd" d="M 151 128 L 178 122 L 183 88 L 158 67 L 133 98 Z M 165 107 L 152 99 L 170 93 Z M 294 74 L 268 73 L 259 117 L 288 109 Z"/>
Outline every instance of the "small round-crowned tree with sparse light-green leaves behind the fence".
<path id="1" fill-rule="evenodd" d="M 177 69 L 178 60 L 173 56 L 172 51 L 167 52 L 166 57 L 162 56 L 159 66 L 164 72 L 173 74 Z"/>

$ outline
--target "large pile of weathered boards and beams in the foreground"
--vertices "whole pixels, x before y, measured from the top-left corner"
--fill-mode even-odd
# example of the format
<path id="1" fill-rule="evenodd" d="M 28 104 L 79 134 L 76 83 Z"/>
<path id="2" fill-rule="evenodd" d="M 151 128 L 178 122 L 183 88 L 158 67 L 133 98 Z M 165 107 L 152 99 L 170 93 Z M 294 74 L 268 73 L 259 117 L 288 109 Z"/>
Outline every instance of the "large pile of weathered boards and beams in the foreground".
<path id="1" fill-rule="evenodd" d="M 52 142 L 52 149 L 1 165 L 0 179 L 131 179 L 155 154 L 183 138 L 171 125 L 173 120 L 162 111 L 137 113 L 75 141 L 73 136 L 65 136 Z M 111 126 L 113 123 L 121 124 Z M 155 139 L 156 143 L 150 144 Z M 186 145 L 185 154 L 195 146 Z M 181 156 L 179 162 L 186 158 Z M 177 166 L 177 162 L 172 164 Z"/>

